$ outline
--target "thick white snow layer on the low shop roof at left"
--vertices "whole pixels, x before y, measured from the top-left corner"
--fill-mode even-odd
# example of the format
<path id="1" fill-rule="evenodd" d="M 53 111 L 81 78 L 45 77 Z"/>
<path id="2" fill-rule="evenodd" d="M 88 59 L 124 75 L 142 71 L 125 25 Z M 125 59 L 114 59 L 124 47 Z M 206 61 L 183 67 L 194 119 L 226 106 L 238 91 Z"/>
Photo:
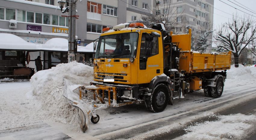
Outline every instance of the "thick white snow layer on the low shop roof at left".
<path id="1" fill-rule="evenodd" d="M 52 38 L 45 44 L 26 42 L 19 36 L 9 33 L 0 33 L 0 49 L 12 50 L 41 50 L 41 51 L 68 51 L 68 41 L 63 38 Z M 91 47 L 77 46 L 78 52 L 93 52 Z"/>

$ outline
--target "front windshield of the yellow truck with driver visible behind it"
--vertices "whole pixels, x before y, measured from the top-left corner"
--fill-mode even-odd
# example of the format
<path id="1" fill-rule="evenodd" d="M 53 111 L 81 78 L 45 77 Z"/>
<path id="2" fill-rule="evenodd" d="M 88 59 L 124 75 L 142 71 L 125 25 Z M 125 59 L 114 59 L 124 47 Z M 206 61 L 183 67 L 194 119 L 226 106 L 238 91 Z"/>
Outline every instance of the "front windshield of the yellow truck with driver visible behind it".
<path id="1" fill-rule="evenodd" d="M 121 33 L 99 38 L 95 58 L 136 57 L 138 33 Z"/>

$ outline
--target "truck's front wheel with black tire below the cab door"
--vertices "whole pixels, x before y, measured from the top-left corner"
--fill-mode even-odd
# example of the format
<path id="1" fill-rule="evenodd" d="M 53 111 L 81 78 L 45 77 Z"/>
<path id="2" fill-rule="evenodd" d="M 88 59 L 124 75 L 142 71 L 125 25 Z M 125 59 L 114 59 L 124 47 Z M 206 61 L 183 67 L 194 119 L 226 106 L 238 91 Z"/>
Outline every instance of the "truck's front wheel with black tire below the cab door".
<path id="1" fill-rule="evenodd" d="M 164 84 L 155 86 L 151 96 L 145 97 L 145 104 L 148 110 L 152 112 L 162 112 L 169 101 L 168 88 Z"/>

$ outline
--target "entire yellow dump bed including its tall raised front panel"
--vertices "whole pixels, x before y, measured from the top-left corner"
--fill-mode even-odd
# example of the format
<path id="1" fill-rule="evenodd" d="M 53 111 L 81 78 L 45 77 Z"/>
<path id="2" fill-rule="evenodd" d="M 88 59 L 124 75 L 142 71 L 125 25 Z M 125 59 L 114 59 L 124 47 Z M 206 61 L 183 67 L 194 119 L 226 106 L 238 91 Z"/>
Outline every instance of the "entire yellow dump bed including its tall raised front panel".
<path id="1" fill-rule="evenodd" d="M 191 29 L 188 34 L 173 35 L 172 42 L 178 42 L 180 48 L 179 71 L 187 73 L 228 70 L 231 63 L 231 51 L 226 53 L 202 53 L 191 51 Z"/>

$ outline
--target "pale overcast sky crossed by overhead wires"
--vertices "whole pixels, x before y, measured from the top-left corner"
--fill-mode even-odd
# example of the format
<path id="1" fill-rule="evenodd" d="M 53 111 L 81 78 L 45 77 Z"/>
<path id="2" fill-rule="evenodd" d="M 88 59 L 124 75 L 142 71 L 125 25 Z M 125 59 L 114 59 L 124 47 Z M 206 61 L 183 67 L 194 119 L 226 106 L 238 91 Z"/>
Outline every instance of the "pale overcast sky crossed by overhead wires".
<path id="1" fill-rule="evenodd" d="M 239 11 L 239 10 L 229 6 L 229 5 L 226 5 L 223 2 L 235 7 L 237 9 L 241 10 L 241 11 Z M 232 2 L 236 3 L 237 5 L 233 4 Z M 244 5 L 245 7 L 240 5 L 237 2 Z M 243 8 L 239 7 L 238 5 L 243 7 Z M 256 14 L 254 14 L 254 13 L 256 13 L 255 6 L 256 6 L 256 1 L 255 0 L 214 0 L 214 14 L 213 14 L 213 23 L 214 23 L 214 25 L 213 25 L 213 28 L 216 29 L 216 27 L 220 26 L 222 23 L 228 22 L 230 19 L 232 19 L 232 14 L 237 14 L 239 16 L 244 16 L 244 14 L 245 14 L 244 12 L 246 12 L 248 14 L 252 14 L 253 16 L 255 16 L 254 19 L 256 19 Z M 250 11 L 247 11 L 244 8 L 245 9 L 249 8 L 248 10 L 252 9 L 253 11 L 252 10 L 250 10 L 250 11 L 252 11 L 254 13 L 252 13 Z M 222 10 L 223 12 L 220 11 L 220 10 Z M 242 12 L 242 11 L 244 11 L 244 12 Z M 226 12 L 226 13 L 224 13 L 224 12 Z M 245 15 L 248 15 L 248 14 L 245 14 Z"/>

